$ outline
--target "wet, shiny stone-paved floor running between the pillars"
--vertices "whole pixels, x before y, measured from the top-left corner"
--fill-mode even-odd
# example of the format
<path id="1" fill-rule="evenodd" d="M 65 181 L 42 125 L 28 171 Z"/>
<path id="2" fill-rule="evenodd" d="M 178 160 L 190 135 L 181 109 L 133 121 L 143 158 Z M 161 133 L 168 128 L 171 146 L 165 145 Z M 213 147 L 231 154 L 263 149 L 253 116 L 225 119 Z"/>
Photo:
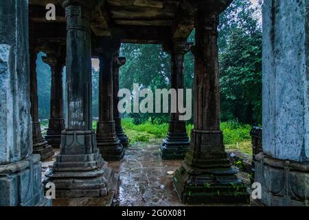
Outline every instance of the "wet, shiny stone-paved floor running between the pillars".
<path id="1" fill-rule="evenodd" d="M 113 206 L 183 206 L 172 184 L 176 168 L 181 160 L 162 160 L 159 155 L 161 140 L 150 143 L 137 142 L 126 148 L 124 159 L 120 162 L 108 162 L 108 165 L 119 173 L 119 190 Z M 58 151 L 56 151 L 58 153 Z M 43 163 L 43 173 L 52 166 L 55 158 Z M 239 173 L 245 182 L 249 179 L 246 173 Z M 78 206 L 75 203 L 62 205 Z M 89 204 L 85 202 L 84 205 Z M 99 205 L 93 204 L 90 205 Z"/>

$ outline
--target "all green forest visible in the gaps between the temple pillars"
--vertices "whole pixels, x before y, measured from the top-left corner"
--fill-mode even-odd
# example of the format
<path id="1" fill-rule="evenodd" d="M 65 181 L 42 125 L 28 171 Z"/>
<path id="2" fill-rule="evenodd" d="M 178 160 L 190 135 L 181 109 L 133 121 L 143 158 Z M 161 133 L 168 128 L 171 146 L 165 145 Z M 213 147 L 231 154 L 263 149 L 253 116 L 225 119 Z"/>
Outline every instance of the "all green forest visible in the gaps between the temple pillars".
<path id="1" fill-rule="evenodd" d="M 260 5 L 249 0 L 233 1 L 220 15 L 219 62 L 221 91 L 221 121 L 259 125 L 262 120 L 262 27 Z M 188 41 L 194 42 L 194 31 Z M 38 102 L 41 120 L 49 118 L 50 68 L 38 55 Z M 161 45 L 123 44 L 121 56 L 127 63 L 120 69 L 120 88 L 132 90 L 133 83 L 141 89 L 170 88 L 170 55 Z M 65 74 L 64 74 L 65 75 Z M 93 117 L 98 117 L 98 77 L 93 68 Z M 194 56 L 185 56 L 185 88 L 192 89 Z M 65 82 L 65 78 L 64 78 Z M 65 84 L 64 84 L 65 85 Z M 156 124 L 166 123 L 169 114 L 124 115 L 133 118 L 135 124 L 148 120 Z M 191 121 L 192 122 L 192 121 Z"/>

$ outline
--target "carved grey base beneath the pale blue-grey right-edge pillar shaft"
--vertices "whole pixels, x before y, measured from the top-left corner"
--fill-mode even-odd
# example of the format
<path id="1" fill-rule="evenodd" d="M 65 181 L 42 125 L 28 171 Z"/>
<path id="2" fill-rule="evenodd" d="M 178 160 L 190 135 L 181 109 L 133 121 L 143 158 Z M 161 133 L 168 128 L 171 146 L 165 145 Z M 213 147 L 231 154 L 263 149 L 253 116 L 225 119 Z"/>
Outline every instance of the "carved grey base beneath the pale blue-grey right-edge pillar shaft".
<path id="1" fill-rule="evenodd" d="M 309 164 L 255 155 L 255 182 L 265 206 L 309 206 Z"/>

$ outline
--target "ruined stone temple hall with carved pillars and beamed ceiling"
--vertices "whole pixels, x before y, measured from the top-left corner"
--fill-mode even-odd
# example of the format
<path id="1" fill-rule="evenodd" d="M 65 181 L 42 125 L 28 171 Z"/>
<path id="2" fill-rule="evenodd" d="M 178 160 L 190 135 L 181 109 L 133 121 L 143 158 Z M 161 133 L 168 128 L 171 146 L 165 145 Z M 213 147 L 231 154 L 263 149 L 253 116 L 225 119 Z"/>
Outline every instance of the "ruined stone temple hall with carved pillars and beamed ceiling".
<path id="1" fill-rule="evenodd" d="M 194 129 L 171 113 L 162 159 L 184 159 L 172 183 L 185 204 L 249 203 L 220 131 L 219 15 L 232 0 L 20 0 L 0 5 L 0 206 L 51 206 L 41 160 L 56 155 L 44 184 L 57 198 L 107 197 L 119 174 L 107 162 L 126 154 L 117 111 L 121 43 L 160 44 L 171 55 L 171 87 L 183 88 L 193 52 Z M 56 5 L 47 21 L 45 6 Z M 308 0 L 264 0 L 263 135 L 255 181 L 262 206 L 308 206 Z M 297 13 L 295 13 L 295 9 Z M 195 28 L 196 42 L 187 42 Z M 52 69 L 50 118 L 38 120 L 36 58 Z M 100 59 L 99 120 L 92 129 L 91 58 Z M 66 68 L 66 94 L 62 87 Z M 67 109 L 64 115 L 64 105 Z M 258 144 L 261 145 L 259 142 Z M 256 144 L 256 145 L 258 145 Z M 258 146 L 260 146 L 258 145 Z M 260 153 L 259 153 L 260 152 Z M 40 157 L 41 155 L 41 157 Z M 40 159 L 41 158 L 41 159 Z M 220 193 L 218 193 L 220 192 Z"/>

